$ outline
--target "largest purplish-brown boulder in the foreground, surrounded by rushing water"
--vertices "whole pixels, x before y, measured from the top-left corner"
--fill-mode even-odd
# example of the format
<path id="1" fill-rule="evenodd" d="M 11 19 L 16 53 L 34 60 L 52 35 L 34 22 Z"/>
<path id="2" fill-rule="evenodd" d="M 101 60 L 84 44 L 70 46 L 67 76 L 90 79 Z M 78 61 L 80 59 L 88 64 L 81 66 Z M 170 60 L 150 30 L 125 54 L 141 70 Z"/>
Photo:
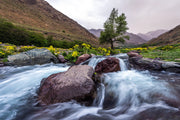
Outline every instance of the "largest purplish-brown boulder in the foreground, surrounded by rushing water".
<path id="1" fill-rule="evenodd" d="M 94 70 L 88 65 L 72 66 L 68 71 L 57 73 L 41 81 L 41 104 L 66 102 L 72 99 L 90 104 L 94 99 L 95 84 L 91 79 Z"/>

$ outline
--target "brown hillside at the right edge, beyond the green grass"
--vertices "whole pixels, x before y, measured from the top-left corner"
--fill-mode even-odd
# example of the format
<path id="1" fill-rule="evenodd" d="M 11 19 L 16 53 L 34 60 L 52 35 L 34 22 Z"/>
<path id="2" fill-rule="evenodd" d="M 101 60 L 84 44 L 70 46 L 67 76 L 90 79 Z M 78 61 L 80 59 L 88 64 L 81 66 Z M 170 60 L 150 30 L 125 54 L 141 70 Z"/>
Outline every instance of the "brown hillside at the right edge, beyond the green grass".
<path id="1" fill-rule="evenodd" d="M 180 25 L 148 42 L 151 45 L 180 44 Z"/>

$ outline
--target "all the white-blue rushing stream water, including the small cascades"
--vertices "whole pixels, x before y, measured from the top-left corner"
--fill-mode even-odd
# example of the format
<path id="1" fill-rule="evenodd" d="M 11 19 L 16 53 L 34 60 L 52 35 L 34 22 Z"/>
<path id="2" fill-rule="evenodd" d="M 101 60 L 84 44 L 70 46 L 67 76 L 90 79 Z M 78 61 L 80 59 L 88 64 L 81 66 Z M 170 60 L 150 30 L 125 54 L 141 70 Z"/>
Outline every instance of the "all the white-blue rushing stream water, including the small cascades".
<path id="1" fill-rule="evenodd" d="M 0 120 L 180 120 L 180 75 L 128 70 L 123 56 L 114 56 L 121 71 L 103 75 L 92 106 L 38 106 L 41 80 L 66 71 L 65 64 L 0 68 Z M 104 59 L 91 58 L 88 65 L 95 68 Z"/>

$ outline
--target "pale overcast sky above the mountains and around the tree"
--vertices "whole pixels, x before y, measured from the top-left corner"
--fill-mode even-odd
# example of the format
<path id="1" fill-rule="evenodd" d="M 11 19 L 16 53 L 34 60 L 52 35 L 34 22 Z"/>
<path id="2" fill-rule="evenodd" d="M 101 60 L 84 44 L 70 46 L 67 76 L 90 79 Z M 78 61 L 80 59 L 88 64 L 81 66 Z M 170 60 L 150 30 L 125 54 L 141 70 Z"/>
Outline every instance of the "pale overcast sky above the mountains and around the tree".
<path id="1" fill-rule="evenodd" d="M 113 8 L 125 13 L 129 32 L 172 29 L 180 24 L 180 0 L 46 0 L 83 27 L 103 28 Z"/>

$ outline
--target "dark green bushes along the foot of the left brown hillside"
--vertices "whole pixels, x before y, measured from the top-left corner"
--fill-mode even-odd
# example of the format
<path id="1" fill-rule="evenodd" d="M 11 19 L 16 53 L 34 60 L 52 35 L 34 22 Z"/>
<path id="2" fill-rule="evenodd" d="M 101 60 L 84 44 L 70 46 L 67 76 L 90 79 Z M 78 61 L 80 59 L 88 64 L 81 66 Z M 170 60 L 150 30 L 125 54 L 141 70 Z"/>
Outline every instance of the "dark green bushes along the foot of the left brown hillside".
<path id="1" fill-rule="evenodd" d="M 45 38 L 40 33 L 30 32 L 21 27 L 14 26 L 4 19 L 0 19 L 0 42 L 14 45 L 34 45 L 37 47 L 54 46 L 58 48 L 72 48 L 82 41 L 54 40 L 52 36 Z"/>

